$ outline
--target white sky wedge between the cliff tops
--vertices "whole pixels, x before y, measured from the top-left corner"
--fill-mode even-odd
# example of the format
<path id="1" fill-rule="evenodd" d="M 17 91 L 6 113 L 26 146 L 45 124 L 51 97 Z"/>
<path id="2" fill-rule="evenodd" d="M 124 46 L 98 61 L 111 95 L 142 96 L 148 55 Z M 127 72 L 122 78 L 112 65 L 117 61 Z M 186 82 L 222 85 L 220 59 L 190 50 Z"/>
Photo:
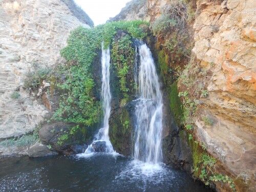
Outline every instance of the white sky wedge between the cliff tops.
<path id="1" fill-rule="evenodd" d="M 110 17 L 116 16 L 131 0 L 75 0 L 94 22 L 94 26 L 104 24 Z"/>

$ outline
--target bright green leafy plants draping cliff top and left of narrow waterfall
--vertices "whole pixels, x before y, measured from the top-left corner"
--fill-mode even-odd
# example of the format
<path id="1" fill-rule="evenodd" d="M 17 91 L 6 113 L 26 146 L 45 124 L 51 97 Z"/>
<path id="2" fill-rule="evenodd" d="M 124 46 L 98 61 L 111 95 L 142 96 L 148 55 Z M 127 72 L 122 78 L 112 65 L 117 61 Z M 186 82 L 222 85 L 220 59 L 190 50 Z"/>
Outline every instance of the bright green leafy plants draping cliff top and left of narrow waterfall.
<path id="1" fill-rule="evenodd" d="M 134 38 L 145 37 L 146 33 L 140 28 L 144 24 L 146 23 L 142 21 L 113 22 L 92 29 L 78 27 L 71 32 L 68 46 L 61 50 L 61 55 L 66 58 L 67 63 L 59 69 L 59 76 L 65 78 L 57 83 L 57 88 L 63 94 L 59 108 L 53 116 L 55 120 L 76 123 L 81 126 L 91 126 L 99 121 L 101 105 L 99 101 L 94 99 L 95 82 L 92 75 L 93 61 L 97 55 L 97 50 L 101 48 L 102 41 L 105 48 L 110 46 L 118 30 L 126 31 Z M 129 42 L 127 37 L 123 41 Z M 122 44 L 119 45 L 123 46 Z M 124 48 L 119 47 L 117 49 Z M 130 53 L 131 50 L 128 52 Z M 122 66 L 120 63 L 116 64 L 120 67 L 118 68 L 118 75 L 122 91 L 126 92 L 124 77 L 129 69 L 127 65 L 130 63 L 122 63 Z M 60 138 L 60 141 L 63 139 L 65 139 L 64 136 Z"/>

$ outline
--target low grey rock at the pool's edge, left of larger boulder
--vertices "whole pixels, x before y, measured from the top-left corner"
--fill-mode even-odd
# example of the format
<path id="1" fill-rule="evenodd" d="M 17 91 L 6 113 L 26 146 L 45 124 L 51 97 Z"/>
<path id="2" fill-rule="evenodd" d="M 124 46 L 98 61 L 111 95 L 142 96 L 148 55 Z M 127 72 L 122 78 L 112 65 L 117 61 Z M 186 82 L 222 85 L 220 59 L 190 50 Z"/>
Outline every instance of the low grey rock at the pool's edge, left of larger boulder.
<path id="1" fill-rule="evenodd" d="M 29 157 L 44 157 L 58 155 L 57 152 L 49 150 L 49 148 L 46 145 L 40 143 L 32 145 L 27 153 Z"/>

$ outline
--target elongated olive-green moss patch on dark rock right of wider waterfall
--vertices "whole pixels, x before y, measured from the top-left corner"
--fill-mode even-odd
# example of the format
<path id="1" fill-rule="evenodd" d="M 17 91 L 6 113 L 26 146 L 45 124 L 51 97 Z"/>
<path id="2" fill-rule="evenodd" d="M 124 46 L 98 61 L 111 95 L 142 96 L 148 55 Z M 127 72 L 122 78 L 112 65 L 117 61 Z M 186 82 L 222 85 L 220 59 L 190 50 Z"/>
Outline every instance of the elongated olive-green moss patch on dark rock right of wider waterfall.
<path id="1" fill-rule="evenodd" d="M 175 81 L 168 89 L 168 97 L 169 97 L 169 103 L 170 103 L 169 106 L 170 106 L 170 110 L 174 114 L 176 123 L 179 126 L 181 126 L 183 110 L 182 110 L 182 104 L 178 94 L 179 92 L 178 92 L 177 81 Z"/>

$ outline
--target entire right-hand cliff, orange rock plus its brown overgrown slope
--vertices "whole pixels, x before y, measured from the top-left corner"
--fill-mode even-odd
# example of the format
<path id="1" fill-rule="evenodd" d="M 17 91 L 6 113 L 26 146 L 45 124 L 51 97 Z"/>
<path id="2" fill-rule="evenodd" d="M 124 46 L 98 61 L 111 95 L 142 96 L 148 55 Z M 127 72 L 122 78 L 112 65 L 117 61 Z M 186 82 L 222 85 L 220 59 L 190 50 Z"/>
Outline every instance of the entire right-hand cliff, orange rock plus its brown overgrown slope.
<path id="1" fill-rule="evenodd" d="M 176 99 L 173 94 L 177 93 L 174 84 L 171 86 L 168 83 L 166 84 L 165 79 L 175 80 L 177 78 L 174 76 L 180 74 L 181 76 L 178 76 L 178 90 L 183 96 L 181 100 L 183 100 L 184 105 L 191 104 L 193 108 L 196 108 L 195 112 L 188 112 L 193 114 L 191 115 L 193 117 L 191 117 L 190 124 L 179 122 L 180 118 L 176 118 L 180 130 L 182 130 L 182 124 L 188 127 L 187 130 L 192 130 L 194 127 L 194 131 L 188 131 L 189 140 L 195 139 L 196 143 L 201 143 L 200 145 L 203 146 L 201 150 L 206 150 L 206 153 L 219 161 L 221 168 L 217 168 L 219 169 L 217 172 L 229 174 L 230 177 L 234 178 L 237 190 L 253 191 L 255 189 L 253 187 L 256 171 L 254 139 L 256 136 L 254 123 L 256 114 L 255 1 L 148 0 L 144 6 L 138 7 L 137 10 L 130 10 L 129 12 L 129 9 L 127 9 L 129 7 L 132 7 L 132 5 L 124 8 L 113 19 L 132 20 L 133 18 L 141 18 L 152 24 L 153 31 L 154 22 L 157 18 L 161 17 L 161 22 L 166 22 L 163 19 L 164 14 L 169 14 L 170 18 L 173 19 L 175 18 L 175 11 L 181 10 L 179 7 L 183 8 L 183 12 L 187 12 L 184 17 L 187 19 L 186 26 L 182 30 L 188 34 L 190 39 L 184 41 L 185 46 L 194 41 L 192 52 L 189 53 L 191 54 L 189 57 L 193 57 L 194 61 L 196 60 L 194 64 L 191 64 L 191 59 L 188 63 L 189 59 L 186 59 L 186 56 L 182 58 L 180 53 L 176 54 L 174 46 L 166 46 L 166 39 L 172 37 L 170 42 L 179 47 L 179 44 L 174 42 L 174 37 L 176 38 L 177 35 L 172 36 L 174 33 L 177 34 L 177 30 L 167 28 L 169 31 L 165 32 L 164 35 L 156 34 L 156 60 L 158 60 L 159 73 L 164 81 L 163 89 L 169 88 L 171 90 L 171 111 L 175 115 L 179 108 L 178 105 L 172 107 L 172 100 Z M 143 12 L 143 16 L 142 14 L 135 15 L 136 12 Z M 166 25 L 166 23 L 164 24 Z M 169 25 L 172 25 L 172 23 L 170 22 Z M 189 34 L 191 35 L 189 36 Z M 183 48 L 181 47 L 181 49 Z M 159 56 L 157 56 L 157 53 Z M 174 54 L 178 55 L 180 59 L 177 59 Z M 167 67 L 166 73 L 163 73 L 162 60 Z M 186 68 L 184 67 L 186 65 L 194 65 L 194 67 Z M 188 78 L 193 73 L 189 72 L 193 71 L 193 68 L 198 69 L 194 74 L 195 82 L 184 84 L 184 81 L 193 80 L 193 78 Z M 170 70 L 170 73 L 168 70 Z M 182 70 L 185 72 L 181 72 Z M 193 86 L 188 86 L 188 84 L 193 83 Z M 200 94 L 197 93 L 197 96 L 195 96 L 195 89 L 201 90 Z M 183 108 L 185 109 L 185 106 Z M 174 126 L 173 124 L 170 131 L 175 131 Z M 175 136 L 170 132 L 169 135 Z M 175 138 L 177 137 L 175 136 Z M 183 136 L 181 131 L 179 138 L 183 141 L 184 138 L 186 140 L 186 136 Z M 202 152 L 195 150 L 197 147 L 195 147 L 195 144 L 191 144 L 190 141 L 188 143 L 190 143 L 191 155 L 194 161 L 194 175 L 197 175 L 195 173 L 198 170 L 195 170 L 197 168 L 195 165 L 198 163 L 196 162 L 198 153 Z M 174 143 L 177 145 L 179 142 L 176 140 Z M 170 154 L 175 153 L 176 150 L 173 146 L 175 144 L 170 144 L 169 148 L 167 147 L 164 150 L 169 151 Z M 180 146 L 183 146 L 180 151 L 184 152 L 184 144 Z M 199 174 L 197 177 L 199 177 Z M 202 172 L 200 179 L 205 180 Z M 229 190 L 218 183 L 216 189 Z"/>

